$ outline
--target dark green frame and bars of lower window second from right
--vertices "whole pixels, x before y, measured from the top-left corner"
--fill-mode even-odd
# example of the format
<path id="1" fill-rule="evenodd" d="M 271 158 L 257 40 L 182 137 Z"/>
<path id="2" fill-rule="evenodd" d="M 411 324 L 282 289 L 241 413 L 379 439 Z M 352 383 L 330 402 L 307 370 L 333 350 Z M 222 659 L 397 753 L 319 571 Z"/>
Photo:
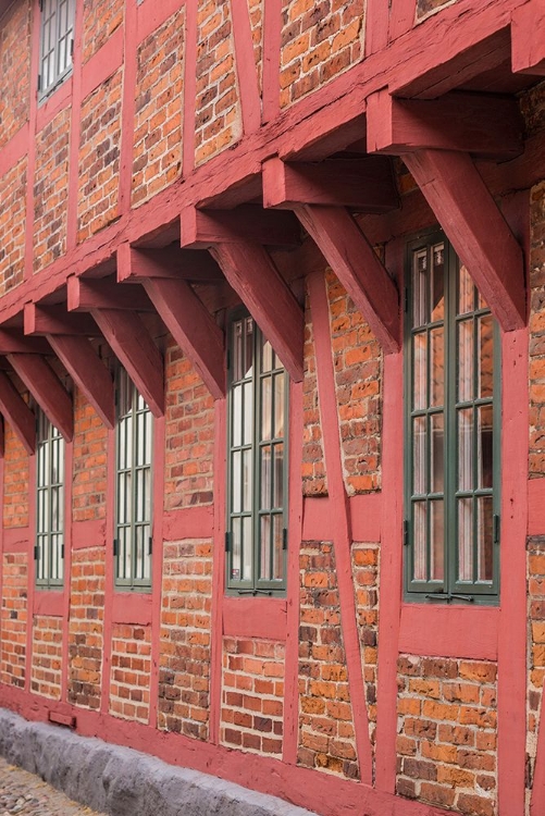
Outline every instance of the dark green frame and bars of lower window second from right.
<path id="1" fill-rule="evenodd" d="M 252 323 L 252 355 L 253 362 L 251 367 L 251 374 L 249 376 L 243 376 L 241 379 L 235 379 L 235 353 L 234 353 L 234 331 L 237 323 L 245 323 L 251 321 Z M 263 343 L 271 349 L 272 353 L 272 368 L 263 371 Z M 275 364 L 276 363 L 276 364 Z M 271 425 L 271 437 L 261 437 L 260 423 L 262 419 L 262 383 L 265 379 L 282 378 L 283 380 L 283 435 L 275 436 Z M 235 443 L 235 388 L 244 388 L 244 383 L 251 383 L 252 387 L 252 399 L 251 399 L 251 411 L 252 411 L 252 429 L 249 441 L 245 441 L 244 437 L 244 398 L 240 399 L 240 444 Z M 259 387 L 258 387 L 259 385 Z M 264 387 L 264 386 L 263 386 Z M 271 388 L 271 392 L 273 388 Z M 243 393 L 243 392 L 240 392 Z M 274 423 L 274 397 L 271 403 L 271 422 Z M 285 595 L 286 592 L 286 569 L 287 569 L 287 526 L 288 526 L 288 466 L 289 466 L 289 376 L 285 368 L 280 362 L 277 355 L 267 343 L 267 339 L 259 329 L 256 321 L 249 316 L 247 310 L 239 308 L 232 311 L 227 320 L 227 491 L 226 491 L 226 534 L 225 534 L 225 548 L 226 548 L 226 591 L 233 595 Z M 274 503 L 273 494 L 275 489 L 276 475 L 271 477 L 271 499 L 269 502 L 270 508 L 261 506 L 261 491 L 262 491 L 262 473 L 261 468 L 258 467 L 260 463 L 261 450 L 271 445 L 275 448 L 277 445 L 283 445 L 283 462 L 282 462 L 282 505 Z M 243 450 L 249 450 L 251 459 L 251 484 L 248 485 L 248 490 L 251 493 L 250 504 L 251 509 L 248 509 L 244 498 L 244 477 L 243 477 Z M 240 452 L 239 463 L 240 477 L 239 484 L 236 491 L 236 495 L 239 496 L 239 510 L 234 509 L 235 502 L 235 457 Z M 271 456 L 271 474 L 274 471 L 274 454 Z M 260 578 L 260 559 L 261 559 L 261 537 L 260 537 L 260 526 L 261 519 L 269 516 L 271 518 L 271 532 L 270 532 L 270 570 L 271 574 L 274 572 L 274 521 L 272 517 L 281 518 L 281 559 L 282 559 L 282 578 Z M 239 567 L 234 566 L 237 549 L 237 536 L 235 531 L 236 519 L 243 519 L 244 517 L 251 519 L 251 546 L 250 546 L 250 577 L 240 574 L 244 572 L 244 537 L 241 539 L 241 549 L 239 557 Z M 244 521 L 240 521 L 240 528 L 243 528 Z M 267 522 L 264 522 L 267 526 Z M 244 533 L 241 533 L 244 536 Z M 278 561 L 276 561 L 278 566 Z M 239 577 L 236 577 L 235 570 L 238 569 Z"/>

